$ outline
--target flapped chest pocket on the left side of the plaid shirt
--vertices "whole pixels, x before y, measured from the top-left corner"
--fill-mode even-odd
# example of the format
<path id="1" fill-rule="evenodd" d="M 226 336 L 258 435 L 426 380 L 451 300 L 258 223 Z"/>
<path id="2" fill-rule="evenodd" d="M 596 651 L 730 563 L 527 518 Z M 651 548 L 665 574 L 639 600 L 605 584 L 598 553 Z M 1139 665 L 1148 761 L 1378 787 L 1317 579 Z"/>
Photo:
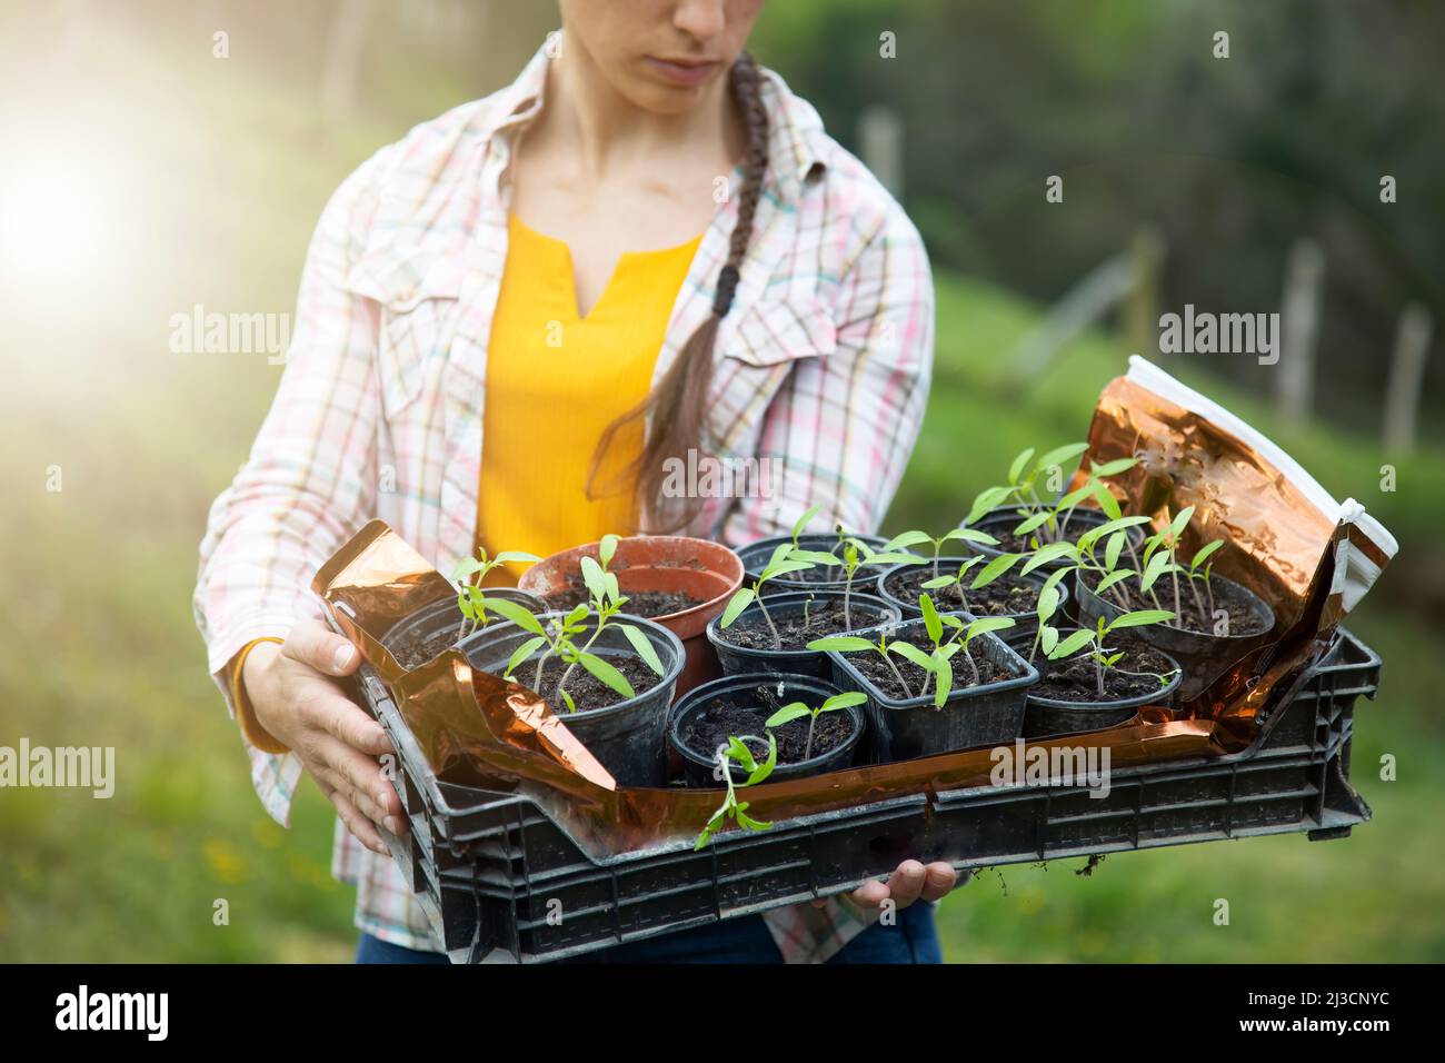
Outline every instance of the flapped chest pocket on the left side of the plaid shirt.
<path id="1" fill-rule="evenodd" d="M 381 406 L 396 421 L 438 380 L 457 330 L 462 270 L 452 259 L 367 262 L 345 286 L 379 307 L 376 367 Z"/>

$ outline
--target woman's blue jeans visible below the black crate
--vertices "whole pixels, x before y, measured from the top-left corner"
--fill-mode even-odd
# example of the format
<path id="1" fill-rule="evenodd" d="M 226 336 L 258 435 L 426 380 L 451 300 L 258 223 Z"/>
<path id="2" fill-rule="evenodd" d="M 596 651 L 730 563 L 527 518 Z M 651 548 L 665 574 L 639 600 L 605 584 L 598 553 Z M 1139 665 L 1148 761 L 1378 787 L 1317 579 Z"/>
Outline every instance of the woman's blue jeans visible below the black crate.
<path id="1" fill-rule="evenodd" d="M 711 923 L 643 942 L 577 956 L 564 963 L 782 963 L 762 915 Z M 933 905 L 919 901 L 897 913 L 893 926 L 874 923 L 848 942 L 828 963 L 942 963 Z M 357 963 L 447 963 L 436 952 L 419 952 L 361 934 Z"/>

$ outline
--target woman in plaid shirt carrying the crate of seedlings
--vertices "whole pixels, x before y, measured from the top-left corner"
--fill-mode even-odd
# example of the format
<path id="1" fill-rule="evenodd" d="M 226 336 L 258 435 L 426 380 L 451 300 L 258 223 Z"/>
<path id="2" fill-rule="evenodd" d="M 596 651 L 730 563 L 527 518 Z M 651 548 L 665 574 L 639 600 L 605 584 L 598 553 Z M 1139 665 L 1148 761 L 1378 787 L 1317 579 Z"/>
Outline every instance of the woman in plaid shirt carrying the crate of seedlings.
<path id="1" fill-rule="evenodd" d="M 442 957 L 379 833 L 406 829 L 390 748 L 328 678 L 357 654 L 306 590 L 357 528 L 380 516 L 447 571 L 477 545 L 636 528 L 738 544 L 815 503 L 819 528 L 873 531 L 897 487 L 932 362 L 928 260 L 743 52 L 762 3 L 562 0 L 513 85 L 383 149 L 322 215 L 275 405 L 211 512 L 197 618 L 267 810 L 286 821 L 303 771 L 337 807 L 361 960 Z M 776 490 L 665 498 L 689 451 L 766 458 Z M 954 882 L 909 861 L 845 901 L 601 959 L 936 962 L 928 902 Z"/>

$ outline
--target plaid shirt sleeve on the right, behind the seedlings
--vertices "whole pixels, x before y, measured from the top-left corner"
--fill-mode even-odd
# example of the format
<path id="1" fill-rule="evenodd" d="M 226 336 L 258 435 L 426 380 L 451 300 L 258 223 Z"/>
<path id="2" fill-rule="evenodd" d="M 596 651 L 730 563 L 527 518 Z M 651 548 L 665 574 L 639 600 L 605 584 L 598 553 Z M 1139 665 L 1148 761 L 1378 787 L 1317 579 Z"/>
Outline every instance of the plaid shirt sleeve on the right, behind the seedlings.
<path id="1" fill-rule="evenodd" d="M 837 347 L 801 359 L 764 415 L 757 457 L 772 463 L 773 498 L 728 515 L 731 544 L 811 526 L 870 534 L 907 466 L 933 367 L 933 282 L 928 253 L 896 205 L 842 275 Z"/>

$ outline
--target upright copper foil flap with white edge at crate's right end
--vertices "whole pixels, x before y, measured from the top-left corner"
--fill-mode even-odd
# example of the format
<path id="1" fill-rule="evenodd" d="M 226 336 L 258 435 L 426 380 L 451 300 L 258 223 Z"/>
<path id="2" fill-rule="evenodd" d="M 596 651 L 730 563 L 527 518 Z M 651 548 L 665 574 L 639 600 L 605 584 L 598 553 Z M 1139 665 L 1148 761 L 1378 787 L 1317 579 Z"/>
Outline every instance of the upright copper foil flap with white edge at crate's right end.
<path id="1" fill-rule="evenodd" d="M 1186 714 L 1221 722 L 1227 748 L 1253 738 L 1276 684 L 1314 659 L 1396 552 L 1394 538 L 1347 499 L 1335 502 L 1285 451 L 1250 425 L 1142 357 L 1100 396 L 1090 461 L 1140 458 L 1113 477 L 1126 513 L 1163 528 L 1188 506 L 1181 558 L 1224 539 L 1214 568 L 1274 610 L 1263 645 L 1222 661 Z M 1185 662 L 1188 665 L 1188 662 Z"/>

